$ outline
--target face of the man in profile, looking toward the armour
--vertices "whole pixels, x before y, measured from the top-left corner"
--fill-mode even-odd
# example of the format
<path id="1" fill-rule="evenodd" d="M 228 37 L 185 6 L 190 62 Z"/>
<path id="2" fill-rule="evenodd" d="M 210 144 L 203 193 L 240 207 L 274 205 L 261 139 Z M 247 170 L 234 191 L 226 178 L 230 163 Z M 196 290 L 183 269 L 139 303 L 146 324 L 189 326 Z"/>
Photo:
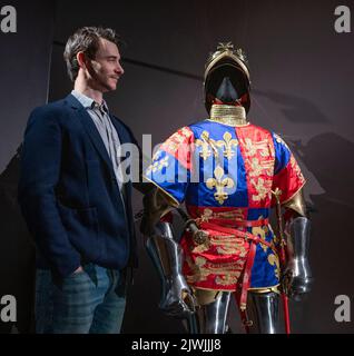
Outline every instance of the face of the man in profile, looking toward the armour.
<path id="1" fill-rule="evenodd" d="M 120 66 L 118 47 L 100 38 L 95 59 L 88 59 L 88 81 L 91 88 L 101 92 L 116 90 L 117 82 L 124 73 Z"/>

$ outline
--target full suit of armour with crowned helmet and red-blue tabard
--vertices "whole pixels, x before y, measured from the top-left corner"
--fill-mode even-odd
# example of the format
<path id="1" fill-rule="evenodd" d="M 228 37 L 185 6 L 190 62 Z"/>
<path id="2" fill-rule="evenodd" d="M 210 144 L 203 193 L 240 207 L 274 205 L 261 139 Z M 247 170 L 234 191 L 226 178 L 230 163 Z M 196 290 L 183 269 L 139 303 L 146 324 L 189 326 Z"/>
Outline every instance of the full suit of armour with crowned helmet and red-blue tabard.
<path id="1" fill-rule="evenodd" d="M 246 118 L 249 71 L 240 50 L 220 43 L 204 86 L 208 119 L 175 132 L 146 171 L 157 188 L 145 197 L 141 231 L 164 283 L 160 307 L 188 318 L 193 333 L 225 333 L 235 294 L 248 332 L 277 333 L 279 293 L 286 306 L 286 295 L 298 298 L 312 281 L 305 179 L 286 144 Z M 179 241 L 168 212 L 184 201 L 190 218 L 181 214 Z M 275 205 L 279 222 L 286 211 L 287 264 L 282 226 L 276 236 L 269 225 Z"/>

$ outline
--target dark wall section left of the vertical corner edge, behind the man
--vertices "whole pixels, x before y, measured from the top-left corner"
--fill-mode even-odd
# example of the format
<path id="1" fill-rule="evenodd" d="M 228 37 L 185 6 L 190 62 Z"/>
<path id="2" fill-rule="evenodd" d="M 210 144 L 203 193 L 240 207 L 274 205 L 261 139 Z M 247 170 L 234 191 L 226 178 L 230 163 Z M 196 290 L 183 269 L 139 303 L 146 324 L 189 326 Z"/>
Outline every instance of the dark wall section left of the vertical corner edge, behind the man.
<path id="1" fill-rule="evenodd" d="M 6 4 L 17 10 L 17 32 L 0 32 L 0 297 L 17 298 L 16 328 L 24 333 L 31 327 L 35 256 L 17 205 L 16 152 L 29 112 L 47 100 L 55 11 L 51 1 L 0 2 Z M 0 322 L 0 333 L 11 329 Z"/>

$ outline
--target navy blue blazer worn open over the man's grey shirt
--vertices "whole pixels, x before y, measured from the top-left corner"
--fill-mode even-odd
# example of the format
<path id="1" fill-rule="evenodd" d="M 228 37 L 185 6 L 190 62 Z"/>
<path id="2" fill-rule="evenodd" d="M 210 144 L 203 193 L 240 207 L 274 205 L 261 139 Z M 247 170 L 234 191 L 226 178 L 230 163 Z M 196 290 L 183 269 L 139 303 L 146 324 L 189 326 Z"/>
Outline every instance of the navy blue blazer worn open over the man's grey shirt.
<path id="1" fill-rule="evenodd" d="M 136 144 L 110 117 L 121 144 Z M 136 265 L 131 182 L 121 198 L 105 144 L 72 95 L 31 112 L 18 198 L 36 240 L 38 267 L 66 277 L 82 263 L 115 269 Z"/>

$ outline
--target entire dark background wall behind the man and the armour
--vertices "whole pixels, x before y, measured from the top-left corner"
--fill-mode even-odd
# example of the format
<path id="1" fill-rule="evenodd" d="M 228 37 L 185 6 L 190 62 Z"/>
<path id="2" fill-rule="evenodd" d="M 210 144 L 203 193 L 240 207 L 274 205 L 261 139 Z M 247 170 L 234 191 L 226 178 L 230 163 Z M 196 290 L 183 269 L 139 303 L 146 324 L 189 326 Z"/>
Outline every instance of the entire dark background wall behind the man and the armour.
<path id="1" fill-rule="evenodd" d="M 282 135 L 307 178 L 312 207 L 311 263 L 316 278 L 302 304 L 292 303 L 295 333 L 353 333 L 336 323 L 334 299 L 350 296 L 353 275 L 354 29 L 336 33 L 334 10 L 344 0 L 216 1 L 0 1 L 18 12 L 18 32 L 0 32 L 0 297 L 14 295 L 18 323 L 0 333 L 31 330 L 33 247 L 16 202 L 16 151 L 29 112 L 71 90 L 63 43 L 82 26 L 115 28 L 125 75 L 109 108 L 141 142 L 166 139 L 204 119 L 204 63 L 219 41 L 248 57 L 253 102 L 249 119 Z M 1 20 L 1 19 L 0 19 Z M 353 22 L 352 21 L 352 22 Z M 352 26 L 353 27 L 353 26 Z M 135 210 L 141 207 L 135 196 Z M 159 281 L 139 237 L 140 267 L 124 322 L 125 333 L 184 333 L 157 308 Z M 242 332 L 235 307 L 229 325 Z"/>

